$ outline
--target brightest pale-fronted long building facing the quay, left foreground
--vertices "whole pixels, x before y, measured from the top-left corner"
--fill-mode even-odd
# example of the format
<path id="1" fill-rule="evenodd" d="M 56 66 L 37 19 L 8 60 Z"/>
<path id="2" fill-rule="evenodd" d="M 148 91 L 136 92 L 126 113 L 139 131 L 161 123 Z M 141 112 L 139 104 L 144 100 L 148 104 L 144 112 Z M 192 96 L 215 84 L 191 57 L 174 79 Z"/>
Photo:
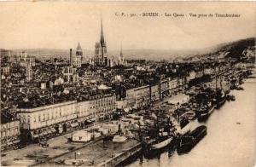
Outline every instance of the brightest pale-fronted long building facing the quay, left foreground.
<path id="1" fill-rule="evenodd" d="M 78 117 L 76 104 L 76 101 L 67 101 L 45 107 L 18 109 L 20 129 L 25 135 L 23 139 L 31 137 L 36 140 L 38 137 L 67 131 Z"/>

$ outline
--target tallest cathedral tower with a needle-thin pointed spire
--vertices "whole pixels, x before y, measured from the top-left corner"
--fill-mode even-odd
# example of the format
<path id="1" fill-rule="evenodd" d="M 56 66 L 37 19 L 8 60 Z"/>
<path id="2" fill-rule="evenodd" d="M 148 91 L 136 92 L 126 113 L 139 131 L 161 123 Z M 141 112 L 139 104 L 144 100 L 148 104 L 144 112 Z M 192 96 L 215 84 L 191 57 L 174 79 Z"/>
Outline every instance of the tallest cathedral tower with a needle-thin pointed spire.
<path id="1" fill-rule="evenodd" d="M 103 34 L 103 24 L 101 19 L 101 38 L 100 42 L 95 45 L 95 65 L 106 66 L 108 64 L 107 44 Z"/>

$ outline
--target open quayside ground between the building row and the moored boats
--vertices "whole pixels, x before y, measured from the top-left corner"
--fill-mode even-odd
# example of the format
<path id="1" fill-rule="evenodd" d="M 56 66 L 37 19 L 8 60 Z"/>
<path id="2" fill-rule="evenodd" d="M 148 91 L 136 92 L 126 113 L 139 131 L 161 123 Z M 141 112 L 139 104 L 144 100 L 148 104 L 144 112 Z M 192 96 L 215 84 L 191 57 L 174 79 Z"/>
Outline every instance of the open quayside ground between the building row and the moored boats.
<path id="1" fill-rule="evenodd" d="M 206 84 L 207 87 L 214 87 L 214 81 L 202 84 Z M 162 108 L 161 105 L 168 101 L 180 101 L 177 99 L 180 99 L 181 95 L 184 93 L 178 93 L 163 101 L 155 102 L 151 109 Z M 175 107 L 171 106 L 168 110 L 169 114 L 173 113 L 174 110 Z M 67 142 L 70 135 L 69 133 L 50 139 L 48 141 L 49 147 L 46 148 L 34 144 L 20 149 L 23 157 L 18 156 L 15 150 L 10 151 L 7 157 L 3 158 L 2 163 L 3 165 L 23 164 L 25 166 L 58 166 L 65 163 L 86 166 L 116 166 L 142 152 L 142 143 L 134 138 L 123 143 L 104 142 L 102 137 L 96 138 L 95 141 L 75 143 Z M 32 155 L 36 158 L 32 159 Z"/>

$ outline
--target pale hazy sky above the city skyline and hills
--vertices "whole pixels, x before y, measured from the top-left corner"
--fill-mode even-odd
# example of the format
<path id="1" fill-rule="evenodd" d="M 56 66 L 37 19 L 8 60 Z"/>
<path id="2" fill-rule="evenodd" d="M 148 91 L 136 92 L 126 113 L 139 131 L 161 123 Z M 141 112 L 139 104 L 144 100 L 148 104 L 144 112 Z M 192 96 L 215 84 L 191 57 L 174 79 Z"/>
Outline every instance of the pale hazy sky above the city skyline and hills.
<path id="1" fill-rule="evenodd" d="M 108 49 L 204 49 L 255 37 L 254 2 L 1 2 L 0 48 L 93 50 L 100 21 Z M 184 17 L 142 17 L 156 12 Z M 137 17 L 116 14 L 137 14 Z M 191 18 L 240 14 L 238 18 Z"/>

